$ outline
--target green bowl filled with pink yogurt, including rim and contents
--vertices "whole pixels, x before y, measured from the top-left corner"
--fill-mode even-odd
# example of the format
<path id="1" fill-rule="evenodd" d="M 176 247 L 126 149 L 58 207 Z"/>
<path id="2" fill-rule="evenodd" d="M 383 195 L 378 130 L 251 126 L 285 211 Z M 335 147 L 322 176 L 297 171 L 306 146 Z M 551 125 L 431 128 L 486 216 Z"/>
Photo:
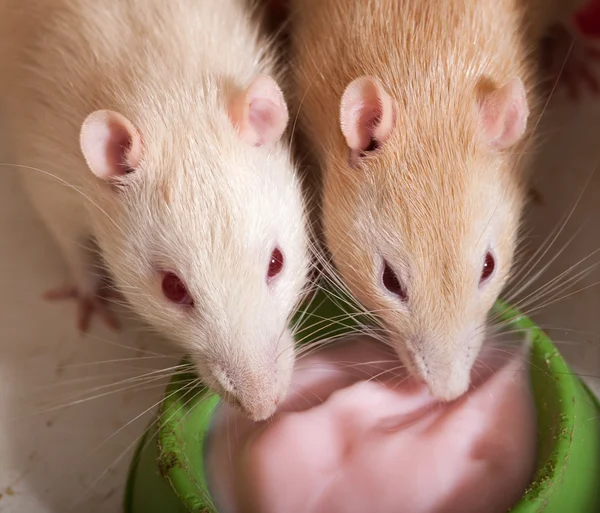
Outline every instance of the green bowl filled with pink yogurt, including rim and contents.
<path id="1" fill-rule="evenodd" d="M 322 299 L 315 317 L 339 315 Z M 521 343 L 484 352 L 473 390 L 448 405 L 361 337 L 300 359 L 288 400 L 260 425 L 174 377 L 126 511 L 600 511 L 597 401 L 529 319 L 499 313 Z"/>

